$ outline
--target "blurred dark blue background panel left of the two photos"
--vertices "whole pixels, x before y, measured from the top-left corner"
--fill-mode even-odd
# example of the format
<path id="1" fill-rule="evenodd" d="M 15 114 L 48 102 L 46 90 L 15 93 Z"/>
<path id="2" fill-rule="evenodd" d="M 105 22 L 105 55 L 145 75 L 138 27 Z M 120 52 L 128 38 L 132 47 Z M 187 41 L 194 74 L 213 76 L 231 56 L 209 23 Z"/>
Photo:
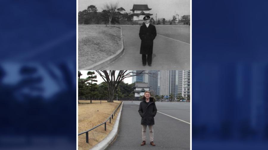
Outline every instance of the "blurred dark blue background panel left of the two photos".
<path id="1" fill-rule="evenodd" d="M 76 1 L 0 11 L 0 149 L 76 149 Z"/>

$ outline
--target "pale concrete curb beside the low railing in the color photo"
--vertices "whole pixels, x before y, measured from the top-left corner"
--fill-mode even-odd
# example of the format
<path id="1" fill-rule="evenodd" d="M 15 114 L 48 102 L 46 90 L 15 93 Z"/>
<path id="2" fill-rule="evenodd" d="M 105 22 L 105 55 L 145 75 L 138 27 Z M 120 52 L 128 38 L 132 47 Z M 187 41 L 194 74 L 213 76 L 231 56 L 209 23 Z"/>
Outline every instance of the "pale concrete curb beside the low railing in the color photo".
<path id="1" fill-rule="evenodd" d="M 118 127 L 119 127 L 119 120 L 120 120 L 120 116 L 121 116 L 121 110 L 123 108 L 123 103 L 124 102 L 122 102 L 120 111 L 117 114 L 118 116 L 116 118 L 116 122 L 113 125 L 113 130 L 107 135 L 107 137 L 105 139 L 103 139 L 100 143 L 98 143 L 97 145 L 95 145 L 90 150 L 104 150 L 104 149 L 106 149 L 109 146 L 109 144 L 116 137 L 116 134 L 117 134 L 117 131 L 118 131 Z"/>

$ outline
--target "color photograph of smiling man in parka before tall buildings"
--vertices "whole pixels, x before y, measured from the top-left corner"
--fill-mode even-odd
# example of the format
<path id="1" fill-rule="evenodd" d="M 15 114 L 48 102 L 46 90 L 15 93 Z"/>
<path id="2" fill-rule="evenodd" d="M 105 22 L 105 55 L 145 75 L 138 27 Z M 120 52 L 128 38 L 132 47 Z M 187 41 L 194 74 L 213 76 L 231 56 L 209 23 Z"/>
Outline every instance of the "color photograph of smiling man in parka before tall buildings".
<path id="1" fill-rule="evenodd" d="M 190 79 L 189 70 L 78 71 L 78 149 L 190 150 Z"/>

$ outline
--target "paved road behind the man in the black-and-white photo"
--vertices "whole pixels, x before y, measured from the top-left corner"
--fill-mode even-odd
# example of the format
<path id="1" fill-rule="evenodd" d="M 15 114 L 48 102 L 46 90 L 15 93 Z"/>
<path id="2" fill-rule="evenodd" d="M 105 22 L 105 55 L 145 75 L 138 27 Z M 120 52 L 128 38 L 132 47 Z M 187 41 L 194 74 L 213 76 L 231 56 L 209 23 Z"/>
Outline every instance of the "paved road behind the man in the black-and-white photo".
<path id="1" fill-rule="evenodd" d="M 124 53 L 102 70 L 190 70 L 190 30 L 175 26 L 156 26 L 152 66 L 142 66 L 138 36 L 140 26 L 122 26 Z"/>

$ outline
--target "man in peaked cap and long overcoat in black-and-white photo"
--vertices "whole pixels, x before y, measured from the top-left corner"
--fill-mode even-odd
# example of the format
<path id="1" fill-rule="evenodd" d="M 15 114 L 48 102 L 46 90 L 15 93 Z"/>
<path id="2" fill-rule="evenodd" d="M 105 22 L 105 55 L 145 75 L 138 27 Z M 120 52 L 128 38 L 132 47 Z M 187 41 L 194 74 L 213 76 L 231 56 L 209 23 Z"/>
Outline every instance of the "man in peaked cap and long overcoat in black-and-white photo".
<path id="1" fill-rule="evenodd" d="M 139 36 L 141 39 L 141 49 L 140 54 L 142 54 L 142 65 L 146 65 L 146 61 L 149 66 L 152 64 L 152 50 L 153 50 L 153 41 L 156 36 L 156 29 L 154 25 L 151 25 L 150 16 L 145 16 L 143 18 L 145 24 L 141 25 Z M 146 57 L 147 55 L 147 57 Z"/>

